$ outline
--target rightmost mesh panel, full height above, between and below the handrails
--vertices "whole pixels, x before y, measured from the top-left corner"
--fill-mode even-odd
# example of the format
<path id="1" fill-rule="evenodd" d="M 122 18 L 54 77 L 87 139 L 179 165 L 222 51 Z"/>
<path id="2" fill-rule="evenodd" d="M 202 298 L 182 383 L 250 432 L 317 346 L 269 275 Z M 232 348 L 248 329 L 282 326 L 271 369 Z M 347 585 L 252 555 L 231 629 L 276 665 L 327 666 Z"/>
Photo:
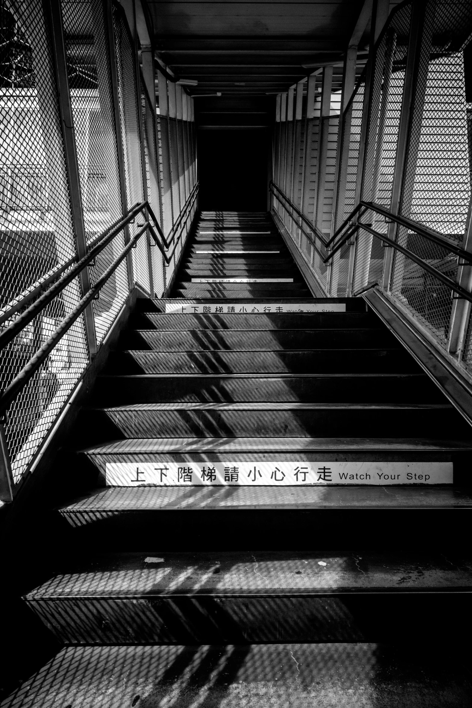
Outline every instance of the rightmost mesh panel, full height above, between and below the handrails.
<path id="1" fill-rule="evenodd" d="M 464 239 L 471 195 L 464 89 L 464 31 L 472 29 L 470 4 L 429 3 L 423 30 L 415 102 L 407 142 L 400 212 L 444 234 Z M 454 253 L 398 227 L 396 240 L 456 281 Z M 446 346 L 451 289 L 401 253 L 395 253 L 390 289 Z"/>

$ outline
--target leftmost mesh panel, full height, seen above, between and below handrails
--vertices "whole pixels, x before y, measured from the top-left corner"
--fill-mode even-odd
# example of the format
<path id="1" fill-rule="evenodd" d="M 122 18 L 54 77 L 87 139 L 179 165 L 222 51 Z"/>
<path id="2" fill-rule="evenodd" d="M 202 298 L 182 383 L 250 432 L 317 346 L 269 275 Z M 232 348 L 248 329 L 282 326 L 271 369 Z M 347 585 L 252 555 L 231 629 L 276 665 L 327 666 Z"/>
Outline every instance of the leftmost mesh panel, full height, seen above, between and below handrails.
<path id="1" fill-rule="evenodd" d="M 52 47 L 39 1 L 13 13 L 0 3 L 1 308 L 76 253 Z M 4 389 L 81 297 L 74 280 L 1 351 Z M 2 326 L 10 324 L 4 319 Z M 47 435 L 88 363 L 82 318 L 35 373 L 8 411 L 6 442 L 13 481 Z"/>

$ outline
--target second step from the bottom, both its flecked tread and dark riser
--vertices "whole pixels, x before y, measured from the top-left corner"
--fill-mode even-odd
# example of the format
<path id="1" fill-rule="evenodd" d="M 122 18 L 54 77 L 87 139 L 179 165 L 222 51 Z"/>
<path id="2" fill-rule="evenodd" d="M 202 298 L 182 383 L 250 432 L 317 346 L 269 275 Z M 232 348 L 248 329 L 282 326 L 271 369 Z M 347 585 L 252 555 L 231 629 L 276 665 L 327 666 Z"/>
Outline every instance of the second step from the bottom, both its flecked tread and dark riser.
<path id="1" fill-rule="evenodd" d="M 425 605 L 444 612 L 472 590 L 472 561 L 439 554 L 159 549 L 61 570 L 25 601 L 64 644 L 394 641 L 407 603 L 416 633 Z"/>

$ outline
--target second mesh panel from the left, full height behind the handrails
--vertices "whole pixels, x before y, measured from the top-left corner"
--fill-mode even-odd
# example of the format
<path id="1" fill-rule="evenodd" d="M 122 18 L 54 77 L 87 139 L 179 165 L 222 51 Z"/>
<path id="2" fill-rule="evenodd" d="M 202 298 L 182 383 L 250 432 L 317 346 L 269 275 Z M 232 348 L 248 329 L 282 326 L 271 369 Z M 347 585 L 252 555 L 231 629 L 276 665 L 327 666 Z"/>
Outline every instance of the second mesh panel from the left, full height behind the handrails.
<path id="1" fill-rule="evenodd" d="M 63 0 L 62 16 L 82 207 L 89 242 L 122 216 L 107 29 L 103 7 L 92 1 Z M 124 246 L 124 236 L 119 234 L 98 254 L 89 268 L 91 285 Z M 98 343 L 127 294 L 127 266 L 123 262 L 93 302 Z"/>

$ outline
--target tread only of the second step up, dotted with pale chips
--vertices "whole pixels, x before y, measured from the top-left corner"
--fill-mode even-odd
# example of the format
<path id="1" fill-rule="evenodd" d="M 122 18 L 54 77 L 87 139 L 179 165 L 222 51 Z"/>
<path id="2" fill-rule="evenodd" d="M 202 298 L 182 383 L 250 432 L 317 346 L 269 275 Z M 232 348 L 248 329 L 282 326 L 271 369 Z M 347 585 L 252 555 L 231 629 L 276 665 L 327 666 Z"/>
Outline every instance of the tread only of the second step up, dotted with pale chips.
<path id="1" fill-rule="evenodd" d="M 75 561 L 73 567 L 42 583 L 25 599 L 434 593 L 471 589 L 472 559 L 439 554 L 167 553 L 158 549 Z"/>

